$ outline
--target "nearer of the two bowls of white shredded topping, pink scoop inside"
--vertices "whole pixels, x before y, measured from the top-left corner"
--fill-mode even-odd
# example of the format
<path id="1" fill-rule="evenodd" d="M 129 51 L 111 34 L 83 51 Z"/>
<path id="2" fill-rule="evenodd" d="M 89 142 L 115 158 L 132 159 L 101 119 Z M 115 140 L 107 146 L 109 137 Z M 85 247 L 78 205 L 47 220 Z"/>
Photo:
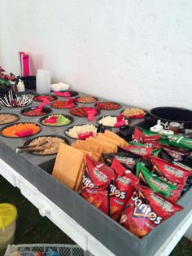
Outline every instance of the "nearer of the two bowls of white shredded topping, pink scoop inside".
<path id="1" fill-rule="evenodd" d="M 76 125 L 69 127 L 64 133 L 71 139 L 86 139 L 89 136 L 97 135 L 97 127 L 89 124 Z"/>

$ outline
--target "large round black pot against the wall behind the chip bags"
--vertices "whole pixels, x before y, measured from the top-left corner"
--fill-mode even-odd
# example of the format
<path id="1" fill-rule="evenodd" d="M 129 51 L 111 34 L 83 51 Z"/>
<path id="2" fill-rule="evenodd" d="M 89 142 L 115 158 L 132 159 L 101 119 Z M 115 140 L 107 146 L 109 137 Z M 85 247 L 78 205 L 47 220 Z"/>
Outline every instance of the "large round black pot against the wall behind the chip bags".
<path id="1" fill-rule="evenodd" d="M 176 107 L 159 107 L 152 108 L 151 111 L 146 113 L 146 121 L 151 126 L 155 126 L 157 121 L 160 119 L 162 122 L 176 121 L 184 125 L 184 128 L 192 129 L 192 111 L 186 108 Z"/>

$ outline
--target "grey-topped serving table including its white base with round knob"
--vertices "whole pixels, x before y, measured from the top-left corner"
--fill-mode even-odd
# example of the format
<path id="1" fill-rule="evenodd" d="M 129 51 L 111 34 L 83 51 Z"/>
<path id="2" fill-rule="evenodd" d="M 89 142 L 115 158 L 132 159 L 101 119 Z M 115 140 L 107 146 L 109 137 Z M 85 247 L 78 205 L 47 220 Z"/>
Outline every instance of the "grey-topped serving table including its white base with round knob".
<path id="1" fill-rule="evenodd" d="M 33 102 L 33 105 L 37 103 Z M 0 113 L 9 112 L 18 113 L 19 109 L 2 108 Z M 54 109 L 54 113 L 68 114 L 68 110 Z M 117 113 L 120 113 L 120 110 L 103 111 L 100 115 Z M 39 117 L 30 117 L 30 121 L 37 122 L 38 119 Z M 20 121 L 28 121 L 28 117 L 21 116 Z M 86 123 L 86 119 L 76 117 L 75 124 L 82 123 Z M 64 135 L 63 131 L 67 127 L 42 126 L 39 135 Z M 184 206 L 184 210 L 155 228 L 144 239 L 133 236 L 120 224 L 90 205 L 78 193 L 72 192 L 51 176 L 55 156 L 15 154 L 15 147 L 23 145 L 26 140 L 26 138 L 8 139 L 1 136 L 0 174 L 20 189 L 20 192 L 37 207 L 41 216 L 50 218 L 50 221 L 89 254 L 168 255 L 190 227 L 192 189 L 179 201 L 179 204 Z"/>

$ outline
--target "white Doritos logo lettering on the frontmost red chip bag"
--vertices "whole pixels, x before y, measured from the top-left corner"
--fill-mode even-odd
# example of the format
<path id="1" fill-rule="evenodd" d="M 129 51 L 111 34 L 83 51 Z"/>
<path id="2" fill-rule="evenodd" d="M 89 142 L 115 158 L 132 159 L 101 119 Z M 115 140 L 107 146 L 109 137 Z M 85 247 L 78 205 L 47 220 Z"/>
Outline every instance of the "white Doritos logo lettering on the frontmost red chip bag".
<path id="1" fill-rule="evenodd" d="M 151 210 L 151 206 L 147 203 L 144 203 L 144 200 L 140 199 L 137 195 L 137 192 L 133 193 L 131 197 L 135 208 L 133 210 L 133 216 L 136 218 L 149 218 L 152 223 L 159 225 L 162 221 L 162 217 L 158 216 L 155 211 Z"/>

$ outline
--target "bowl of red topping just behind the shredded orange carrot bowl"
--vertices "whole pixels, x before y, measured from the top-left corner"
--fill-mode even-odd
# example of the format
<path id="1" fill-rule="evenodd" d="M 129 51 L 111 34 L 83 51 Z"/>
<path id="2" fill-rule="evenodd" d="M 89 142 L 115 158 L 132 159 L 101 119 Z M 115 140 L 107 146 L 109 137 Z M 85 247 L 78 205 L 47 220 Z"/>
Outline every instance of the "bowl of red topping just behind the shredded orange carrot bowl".
<path id="1" fill-rule="evenodd" d="M 45 116 L 51 112 L 52 112 L 51 108 L 48 108 L 48 107 L 38 108 L 38 106 L 24 108 L 20 111 L 21 115 L 28 116 L 28 117 Z"/>

